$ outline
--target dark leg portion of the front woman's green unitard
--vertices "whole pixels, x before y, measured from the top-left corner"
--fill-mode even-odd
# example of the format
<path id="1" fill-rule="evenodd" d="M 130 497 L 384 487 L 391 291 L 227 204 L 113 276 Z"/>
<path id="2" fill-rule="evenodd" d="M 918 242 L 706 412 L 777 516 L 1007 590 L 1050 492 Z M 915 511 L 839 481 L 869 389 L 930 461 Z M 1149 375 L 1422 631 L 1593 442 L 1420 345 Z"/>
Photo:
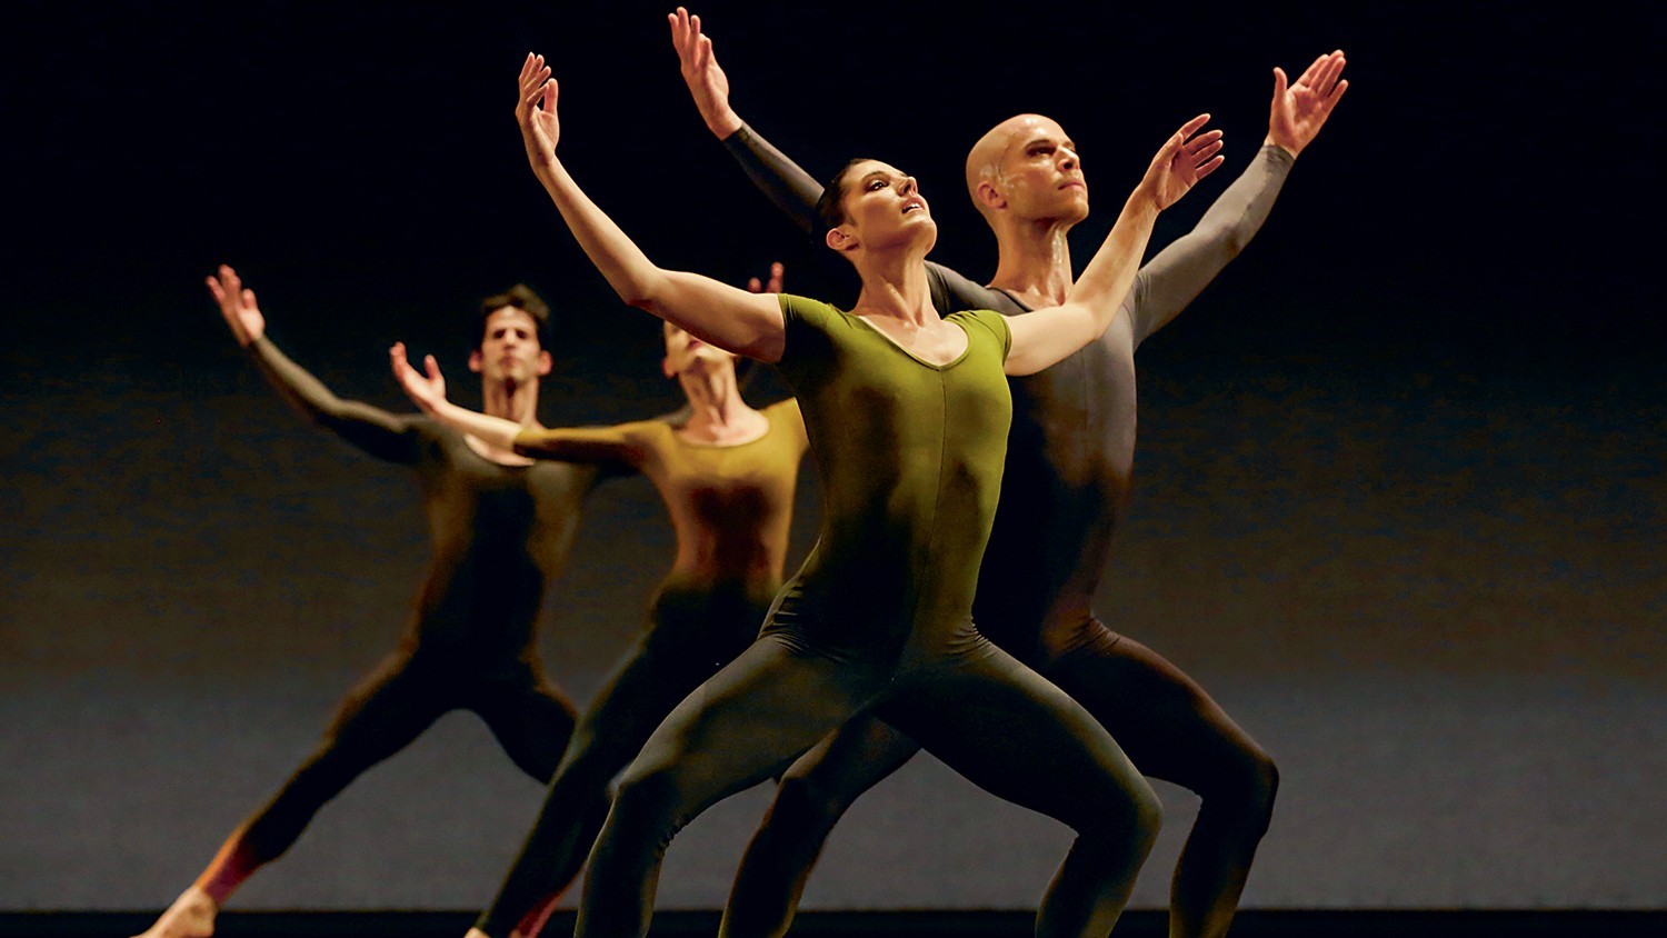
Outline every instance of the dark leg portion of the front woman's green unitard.
<path id="1" fill-rule="evenodd" d="M 1040 935 L 1112 928 L 1162 810 L 1082 706 L 977 633 L 894 670 L 770 631 L 683 700 L 625 770 L 590 853 L 577 935 L 645 935 L 677 831 L 865 706 L 987 791 L 1075 828 L 1039 911 Z"/>

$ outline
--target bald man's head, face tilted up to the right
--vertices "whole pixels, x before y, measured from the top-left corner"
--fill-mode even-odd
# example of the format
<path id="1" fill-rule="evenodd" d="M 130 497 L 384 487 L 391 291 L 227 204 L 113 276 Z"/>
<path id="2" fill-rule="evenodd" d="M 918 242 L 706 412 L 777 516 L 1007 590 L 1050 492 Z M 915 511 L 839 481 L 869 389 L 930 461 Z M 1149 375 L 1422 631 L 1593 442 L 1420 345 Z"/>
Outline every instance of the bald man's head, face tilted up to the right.
<path id="1" fill-rule="evenodd" d="M 1089 217 L 1089 183 L 1082 175 L 1077 145 L 1059 122 L 1019 115 L 992 133 L 999 147 L 997 172 L 987 175 L 987 192 L 975 193 L 1010 212 L 1020 222 L 1062 220 L 1077 223 Z M 982 142 L 980 142 L 982 143 Z"/>

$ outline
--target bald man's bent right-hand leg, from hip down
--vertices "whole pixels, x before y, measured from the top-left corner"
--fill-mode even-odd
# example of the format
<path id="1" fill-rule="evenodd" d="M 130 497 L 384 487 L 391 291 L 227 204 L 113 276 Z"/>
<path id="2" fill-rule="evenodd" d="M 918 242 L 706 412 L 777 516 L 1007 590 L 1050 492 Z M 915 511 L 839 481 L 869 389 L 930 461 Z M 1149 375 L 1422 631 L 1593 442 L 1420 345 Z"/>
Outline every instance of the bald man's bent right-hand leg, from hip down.
<path id="1" fill-rule="evenodd" d="M 1112 731 L 1142 773 L 1202 796 L 1170 888 L 1170 935 L 1219 938 L 1272 818 L 1279 770 L 1180 668 L 1092 625 L 1044 673 Z"/>

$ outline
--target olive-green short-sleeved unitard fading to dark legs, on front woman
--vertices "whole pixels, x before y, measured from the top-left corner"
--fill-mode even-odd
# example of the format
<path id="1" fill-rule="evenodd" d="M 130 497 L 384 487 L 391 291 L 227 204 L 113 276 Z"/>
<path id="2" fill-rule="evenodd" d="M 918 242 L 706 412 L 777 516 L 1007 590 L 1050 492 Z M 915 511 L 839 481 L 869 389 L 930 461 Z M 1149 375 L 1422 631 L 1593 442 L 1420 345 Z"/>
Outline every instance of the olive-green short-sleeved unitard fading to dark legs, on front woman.
<path id="1" fill-rule="evenodd" d="M 758 640 L 625 770 L 578 935 L 645 935 L 672 836 L 870 708 L 980 786 L 1074 826 L 1042 916 L 1060 935 L 1110 928 L 1125 885 L 1105 870 L 1144 856 L 1155 798 L 1087 711 L 972 626 L 1010 417 L 1005 320 L 950 315 L 967 352 L 939 367 L 860 317 L 780 303 L 778 370 L 822 476 L 820 540 Z"/>

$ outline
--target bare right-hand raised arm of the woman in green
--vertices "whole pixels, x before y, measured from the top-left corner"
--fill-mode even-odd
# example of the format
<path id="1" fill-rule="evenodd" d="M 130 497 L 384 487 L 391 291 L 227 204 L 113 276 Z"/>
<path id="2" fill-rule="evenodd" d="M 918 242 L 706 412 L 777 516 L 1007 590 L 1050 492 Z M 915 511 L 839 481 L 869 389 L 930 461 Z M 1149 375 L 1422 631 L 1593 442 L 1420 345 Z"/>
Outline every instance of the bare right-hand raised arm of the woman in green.
<path id="1" fill-rule="evenodd" d="M 1140 255 L 1159 212 L 1222 165 L 1222 133 L 1199 133 L 1209 120 L 1207 113 L 1189 120 L 1152 157 L 1110 235 L 1062 305 L 1007 320 L 1012 333 L 1009 375 L 1040 372 L 1094 342 L 1112 325 L 1140 268 Z"/>

